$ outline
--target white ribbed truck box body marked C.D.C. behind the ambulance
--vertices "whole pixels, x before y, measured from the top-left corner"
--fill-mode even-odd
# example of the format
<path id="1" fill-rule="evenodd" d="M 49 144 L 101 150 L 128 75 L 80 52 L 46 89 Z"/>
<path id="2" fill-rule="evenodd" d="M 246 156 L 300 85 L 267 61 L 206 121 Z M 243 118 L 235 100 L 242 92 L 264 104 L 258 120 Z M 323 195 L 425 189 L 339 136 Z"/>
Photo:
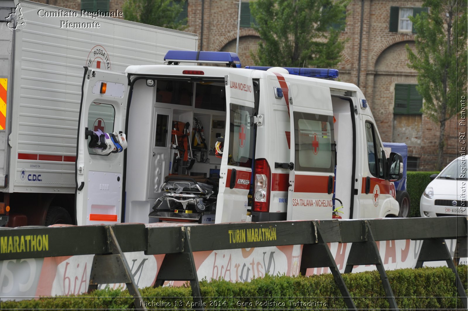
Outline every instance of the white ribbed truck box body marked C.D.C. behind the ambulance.
<path id="1" fill-rule="evenodd" d="M 1 191 L 74 193 L 83 67 L 124 71 L 133 64 L 162 64 L 168 50 L 195 50 L 198 38 L 112 17 L 19 3 L 25 25 L 11 30 L 12 23 L 0 23 L 0 78 L 7 86 L 5 129 L 0 130 Z M 76 16 L 50 16 L 57 12 Z M 95 28 L 71 28 L 71 23 L 94 23 Z M 105 120 L 95 126 L 108 130 Z M 14 203 L 9 203 L 15 212 Z"/>

